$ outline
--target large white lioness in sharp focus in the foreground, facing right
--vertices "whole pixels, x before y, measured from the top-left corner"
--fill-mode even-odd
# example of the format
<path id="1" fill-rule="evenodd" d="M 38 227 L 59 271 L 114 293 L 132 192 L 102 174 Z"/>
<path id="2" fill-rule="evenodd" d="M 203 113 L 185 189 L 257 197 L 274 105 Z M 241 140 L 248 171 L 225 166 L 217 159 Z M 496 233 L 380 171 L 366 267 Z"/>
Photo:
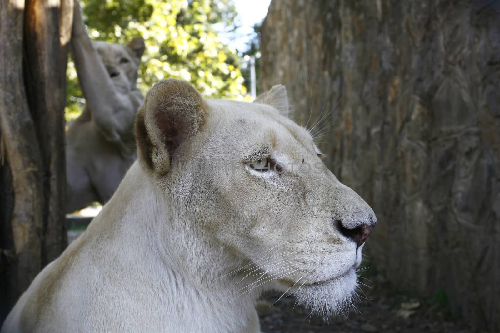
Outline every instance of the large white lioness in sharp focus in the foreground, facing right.
<path id="1" fill-rule="evenodd" d="M 265 290 L 326 314 L 349 304 L 375 216 L 287 113 L 283 86 L 244 103 L 156 84 L 138 160 L 1 332 L 254 333 Z"/>

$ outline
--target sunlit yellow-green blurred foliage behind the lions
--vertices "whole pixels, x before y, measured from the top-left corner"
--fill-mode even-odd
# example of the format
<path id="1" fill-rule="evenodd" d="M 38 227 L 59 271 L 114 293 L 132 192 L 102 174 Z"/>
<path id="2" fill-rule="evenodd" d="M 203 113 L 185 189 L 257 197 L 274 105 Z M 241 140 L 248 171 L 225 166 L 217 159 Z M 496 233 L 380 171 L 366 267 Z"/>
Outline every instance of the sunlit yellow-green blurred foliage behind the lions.
<path id="1" fill-rule="evenodd" d="M 164 78 L 191 82 L 207 98 L 244 99 L 236 50 L 224 45 L 214 25 L 235 28 L 232 0 L 81 0 L 94 39 L 126 43 L 141 35 L 146 51 L 137 85 L 145 92 Z M 72 62 L 67 68 L 66 119 L 81 111 Z"/>

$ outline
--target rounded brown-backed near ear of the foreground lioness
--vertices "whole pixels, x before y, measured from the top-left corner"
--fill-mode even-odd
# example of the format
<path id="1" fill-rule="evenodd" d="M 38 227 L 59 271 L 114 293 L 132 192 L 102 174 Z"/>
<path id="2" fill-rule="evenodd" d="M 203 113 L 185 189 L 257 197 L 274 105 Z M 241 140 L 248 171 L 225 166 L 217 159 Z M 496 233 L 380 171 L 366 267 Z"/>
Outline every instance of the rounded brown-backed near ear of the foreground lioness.
<path id="1" fill-rule="evenodd" d="M 138 158 L 159 175 L 170 170 L 177 149 L 202 126 L 206 102 L 187 82 L 156 83 L 135 117 Z"/>

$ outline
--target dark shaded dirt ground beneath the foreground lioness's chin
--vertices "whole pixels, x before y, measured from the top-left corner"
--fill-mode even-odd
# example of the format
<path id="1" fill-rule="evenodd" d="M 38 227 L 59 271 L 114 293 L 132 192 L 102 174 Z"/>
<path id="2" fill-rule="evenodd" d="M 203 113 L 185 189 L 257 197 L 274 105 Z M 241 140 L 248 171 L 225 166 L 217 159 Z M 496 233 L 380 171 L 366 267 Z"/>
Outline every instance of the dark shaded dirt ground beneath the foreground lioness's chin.
<path id="1" fill-rule="evenodd" d="M 365 295 L 348 319 L 331 318 L 325 323 L 321 318 L 309 316 L 306 309 L 295 305 L 291 298 L 268 295 L 257 304 L 260 312 L 260 329 L 264 333 L 479 333 L 463 322 L 453 319 L 445 306 L 428 300 L 412 299 L 400 293 L 380 277 L 361 279 L 366 284 Z M 364 298 L 366 297 L 366 298 Z M 433 304 L 432 304 L 433 303 Z M 294 307 L 295 305 L 295 307 Z"/>

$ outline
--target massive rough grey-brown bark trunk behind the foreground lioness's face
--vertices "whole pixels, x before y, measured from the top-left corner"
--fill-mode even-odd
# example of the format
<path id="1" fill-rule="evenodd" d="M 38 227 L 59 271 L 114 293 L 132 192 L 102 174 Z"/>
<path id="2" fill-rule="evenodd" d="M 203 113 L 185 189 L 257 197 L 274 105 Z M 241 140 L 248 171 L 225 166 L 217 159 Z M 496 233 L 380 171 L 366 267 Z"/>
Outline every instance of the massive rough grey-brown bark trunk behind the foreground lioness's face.
<path id="1" fill-rule="evenodd" d="M 444 290 L 453 311 L 500 329 L 500 4 L 272 0 L 260 84 L 378 217 L 371 264 L 400 288 Z M 333 109 L 333 110 L 332 110 Z M 328 111 L 331 113 L 328 113 Z"/>

